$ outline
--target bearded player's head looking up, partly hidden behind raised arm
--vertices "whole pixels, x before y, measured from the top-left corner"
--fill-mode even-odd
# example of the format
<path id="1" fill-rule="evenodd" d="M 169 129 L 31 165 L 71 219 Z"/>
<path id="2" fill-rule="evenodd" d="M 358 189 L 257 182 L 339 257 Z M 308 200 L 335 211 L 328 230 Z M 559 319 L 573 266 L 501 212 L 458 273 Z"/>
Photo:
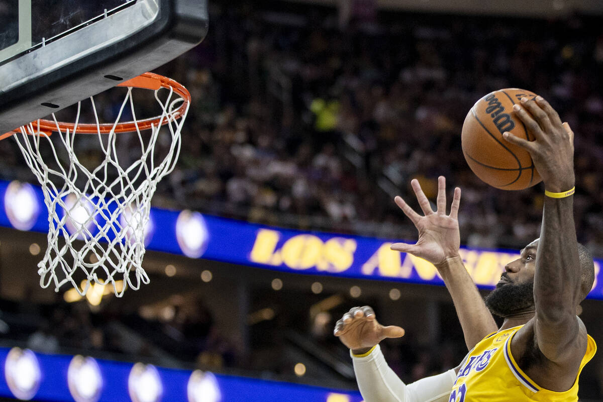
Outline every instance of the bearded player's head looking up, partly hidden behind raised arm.
<path id="1" fill-rule="evenodd" d="M 519 259 L 505 265 L 499 283 L 485 299 L 486 306 L 498 316 L 507 317 L 534 309 L 534 273 L 539 239 L 529 243 Z M 589 294 L 595 280 L 593 257 L 584 245 L 578 243 L 581 270 L 579 301 Z"/>

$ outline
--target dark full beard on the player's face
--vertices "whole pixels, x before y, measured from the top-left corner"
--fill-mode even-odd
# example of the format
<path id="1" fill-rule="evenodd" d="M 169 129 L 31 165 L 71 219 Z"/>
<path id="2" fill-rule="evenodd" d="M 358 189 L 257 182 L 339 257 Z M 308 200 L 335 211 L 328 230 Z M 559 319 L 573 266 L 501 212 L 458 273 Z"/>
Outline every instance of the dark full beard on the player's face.
<path id="1" fill-rule="evenodd" d="M 534 281 L 506 283 L 496 287 L 485 298 L 490 312 L 500 317 L 508 317 L 534 307 Z"/>

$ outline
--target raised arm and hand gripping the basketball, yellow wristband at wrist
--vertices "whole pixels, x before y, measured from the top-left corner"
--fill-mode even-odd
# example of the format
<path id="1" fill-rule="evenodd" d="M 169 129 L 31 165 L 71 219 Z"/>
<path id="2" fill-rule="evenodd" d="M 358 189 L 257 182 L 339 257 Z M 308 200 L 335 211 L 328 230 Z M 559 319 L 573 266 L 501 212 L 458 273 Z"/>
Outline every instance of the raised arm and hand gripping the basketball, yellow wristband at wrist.
<path id="1" fill-rule="evenodd" d="M 573 133 L 545 101 L 522 99 L 515 113 L 534 135 L 526 141 L 505 133 L 525 148 L 552 193 L 573 189 Z M 528 113 L 529 111 L 529 113 Z M 586 350 L 576 306 L 581 301 L 581 269 L 573 221 L 573 196 L 545 196 L 545 207 L 534 274 L 535 341 L 547 359 L 574 365 Z"/>

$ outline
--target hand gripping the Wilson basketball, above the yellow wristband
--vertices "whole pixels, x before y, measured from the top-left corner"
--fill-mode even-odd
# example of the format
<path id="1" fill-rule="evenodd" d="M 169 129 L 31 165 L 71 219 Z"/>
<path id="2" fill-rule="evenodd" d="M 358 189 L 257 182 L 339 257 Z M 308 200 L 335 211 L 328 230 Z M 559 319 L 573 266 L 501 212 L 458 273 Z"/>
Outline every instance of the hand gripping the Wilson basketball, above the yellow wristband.
<path id="1" fill-rule="evenodd" d="M 557 111 L 541 96 L 522 98 L 521 105 L 513 106 L 514 114 L 526 125 L 534 141 L 522 139 L 511 133 L 503 137 L 526 151 L 534 167 L 551 192 L 563 192 L 575 184 L 573 172 L 573 131 L 562 123 Z"/>

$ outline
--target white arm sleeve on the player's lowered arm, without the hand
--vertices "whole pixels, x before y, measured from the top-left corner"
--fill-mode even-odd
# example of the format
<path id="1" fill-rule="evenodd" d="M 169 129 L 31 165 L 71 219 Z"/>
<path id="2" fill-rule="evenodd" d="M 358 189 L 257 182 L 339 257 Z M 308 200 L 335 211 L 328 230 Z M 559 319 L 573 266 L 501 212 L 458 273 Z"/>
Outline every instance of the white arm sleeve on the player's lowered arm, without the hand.
<path id="1" fill-rule="evenodd" d="M 409 385 L 387 365 L 377 345 L 370 354 L 356 357 L 350 351 L 358 388 L 365 402 L 448 402 L 456 380 L 454 369 Z"/>

